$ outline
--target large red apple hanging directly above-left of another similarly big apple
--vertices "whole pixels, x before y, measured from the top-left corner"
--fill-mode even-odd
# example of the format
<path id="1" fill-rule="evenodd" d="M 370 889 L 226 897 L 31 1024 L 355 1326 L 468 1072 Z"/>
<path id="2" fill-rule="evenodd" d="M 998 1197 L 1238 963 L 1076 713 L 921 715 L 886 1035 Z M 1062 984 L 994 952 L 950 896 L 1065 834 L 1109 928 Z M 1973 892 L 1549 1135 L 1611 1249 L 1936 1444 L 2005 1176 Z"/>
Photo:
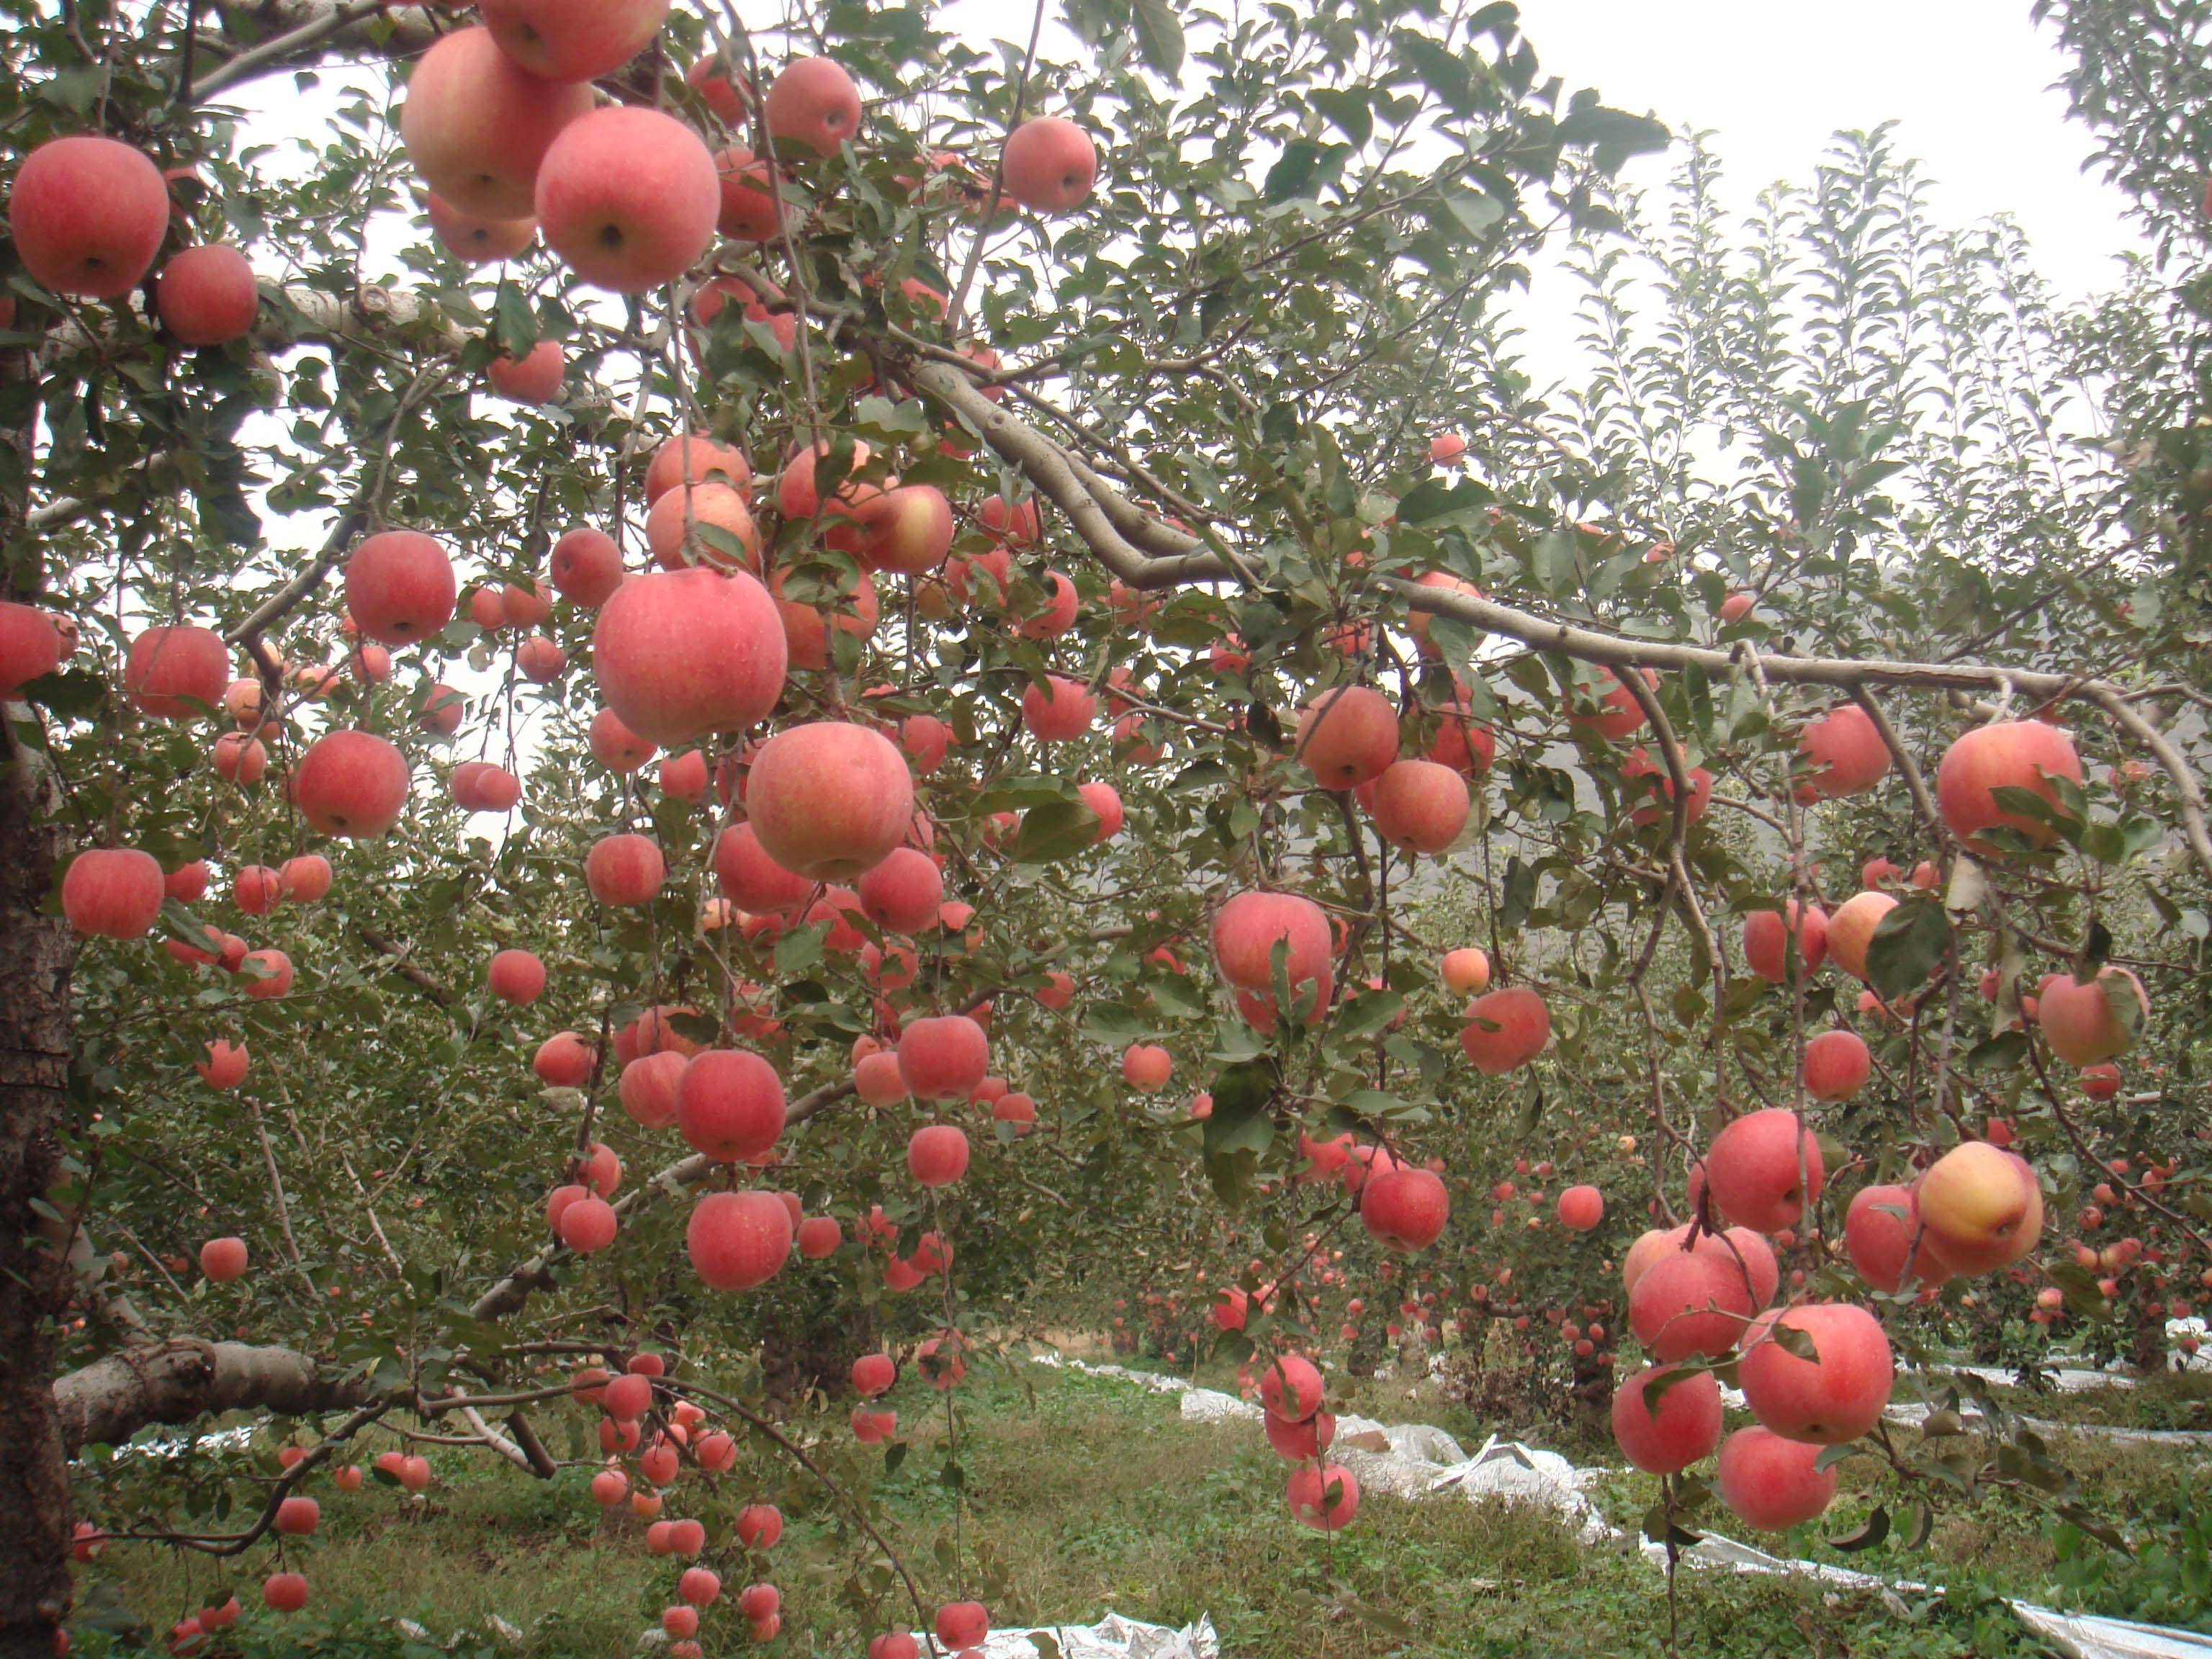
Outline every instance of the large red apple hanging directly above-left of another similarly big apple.
<path id="1" fill-rule="evenodd" d="M 783 692 L 783 619 L 750 575 L 653 571 L 599 608 L 591 635 L 599 695 L 655 743 L 739 732 Z"/>

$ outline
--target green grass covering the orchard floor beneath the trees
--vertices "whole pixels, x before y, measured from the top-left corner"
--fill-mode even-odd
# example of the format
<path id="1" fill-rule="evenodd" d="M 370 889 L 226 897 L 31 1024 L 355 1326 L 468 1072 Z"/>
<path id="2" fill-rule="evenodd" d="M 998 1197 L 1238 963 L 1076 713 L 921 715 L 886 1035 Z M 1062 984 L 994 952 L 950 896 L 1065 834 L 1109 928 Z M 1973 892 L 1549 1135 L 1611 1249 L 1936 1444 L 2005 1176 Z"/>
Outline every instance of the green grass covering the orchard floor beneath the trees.
<path id="1" fill-rule="evenodd" d="M 1144 1360 L 1137 1360 L 1144 1365 Z M 1402 1394 L 1405 1389 L 1396 1389 Z M 1440 1420 L 1478 1438 L 1482 1425 L 1453 1425 L 1444 1402 L 1391 1400 L 1367 1385 L 1354 1409 L 1391 1420 Z M 849 1460 L 872 1513 L 898 1540 L 925 1595 L 951 1599 L 960 1584 L 982 1595 L 995 1621 L 1091 1624 L 1108 1608 L 1159 1624 L 1210 1615 L 1225 1659 L 1504 1659 L 1504 1655 L 1659 1655 L 1670 1606 L 1663 1582 L 1630 1548 L 1582 1548 L 1548 1511 L 1451 1498 L 1422 1504 L 1371 1493 L 1345 1533 L 1323 1537 L 1294 1526 L 1283 1509 L 1285 1467 L 1250 1422 L 1188 1425 L 1172 1396 L 1044 1367 L 987 1374 L 962 1389 L 953 1453 L 945 1416 L 927 1389 L 894 1396 L 907 1451 L 891 1473 L 878 1451 L 852 1444 L 838 1422 L 823 1427 L 823 1455 Z M 1405 1409 L 1394 1409 L 1405 1407 Z M 1431 1409 L 1436 1407 L 1436 1409 Z M 867 1453 L 867 1455 L 863 1455 Z M 2101 1462 L 2099 1462 L 2101 1458 Z M 321 1489 L 321 1533 L 292 1555 L 310 1573 L 307 1613 L 259 1613 L 259 1577 L 272 1571 L 268 1546 L 250 1568 L 232 1568 L 250 1617 L 226 1641 L 259 1659 L 281 1652 L 332 1652 L 378 1659 L 429 1659 L 431 1652 L 500 1652 L 522 1659 L 641 1652 L 641 1632 L 666 1604 L 677 1566 L 641 1548 L 641 1524 L 602 1517 L 584 1493 L 586 1471 L 535 1482 L 489 1458 L 438 1453 L 429 1502 L 409 1511 L 392 1491 L 354 1495 Z M 958 1464 L 967 1504 L 958 1513 L 947 1464 Z M 2139 1511 L 2174 1511 L 2192 1500 L 2188 1469 L 2172 1458 L 2097 1453 L 2088 1467 L 2110 1498 Z M 684 1482 L 701 1480 L 688 1473 Z M 845 1601 L 854 1566 L 867 1557 L 836 1524 L 821 1489 L 768 1478 L 790 1515 L 770 1571 L 783 1590 L 783 1635 L 752 1648 L 743 1621 L 714 1608 L 701 1639 L 708 1652 L 838 1655 L 856 1659 L 865 1635 L 889 1621 L 880 1604 Z M 710 1564 L 726 1595 L 748 1564 L 730 1542 L 728 1506 L 677 1486 L 677 1502 L 710 1522 Z M 1615 1524 L 1632 1531 L 1655 1498 L 1655 1482 L 1615 1478 L 1593 1495 Z M 1905 1502 L 1871 1458 L 1845 1464 L 1843 1524 L 1874 1502 Z M 670 1513 L 681 1513 L 670 1509 Z M 1829 1526 L 1827 1531 L 1840 1531 Z M 2048 1599 L 2053 1533 L 2042 1511 L 2008 1493 L 1953 1504 L 1929 1548 L 1898 1542 L 1865 1555 L 1838 1555 L 1803 1528 L 1787 1548 L 1896 1577 L 1947 1579 L 1949 1599 L 1898 1613 L 1876 1595 L 1796 1579 L 1683 1573 L 1672 1617 L 1683 1650 L 1701 1655 L 1807 1652 L 1911 1655 L 1913 1659 L 1997 1659 L 2028 1652 L 2017 1624 L 1989 1597 L 2013 1590 Z M 159 1548 L 113 1546 L 84 1568 L 80 1595 L 106 1608 L 104 1624 L 139 1621 L 155 1630 L 197 1606 L 212 1588 L 204 1559 Z M 429 1644 L 394 1630 L 416 1619 Z M 518 1626 L 520 1641 L 484 1635 L 487 1619 Z M 458 1648 L 449 1648 L 458 1639 Z M 82 1628 L 80 1652 L 131 1652 L 122 1635 Z"/>

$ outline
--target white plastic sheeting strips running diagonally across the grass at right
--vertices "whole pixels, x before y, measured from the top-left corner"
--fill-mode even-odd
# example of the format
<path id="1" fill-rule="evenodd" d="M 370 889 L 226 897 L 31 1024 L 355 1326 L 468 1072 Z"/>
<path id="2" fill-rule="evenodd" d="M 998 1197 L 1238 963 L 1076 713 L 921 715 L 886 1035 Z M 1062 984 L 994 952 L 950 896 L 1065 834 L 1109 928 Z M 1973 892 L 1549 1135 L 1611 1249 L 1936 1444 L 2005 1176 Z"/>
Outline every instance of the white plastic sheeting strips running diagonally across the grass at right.
<path id="1" fill-rule="evenodd" d="M 1179 1394 L 1181 1413 L 1192 1422 L 1256 1422 L 1261 1416 L 1256 1405 L 1241 1400 L 1234 1394 L 1201 1389 L 1157 1371 L 1133 1371 L 1126 1365 L 1086 1365 L 1084 1360 L 1071 1360 L 1060 1354 L 1033 1354 L 1031 1358 L 1037 1365 L 1057 1365 L 1088 1376 L 1121 1378 L 1126 1383 L 1135 1383 L 1137 1387 L 1152 1389 L 1155 1394 Z M 2015 1383 L 2011 1371 L 1997 1371 L 1993 1367 L 1955 1369 L 1971 1369 L 1989 1383 Z M 2110 1387 L 2115 1383 L 2128 1387 L 2132 1385 L 2132 1378 L 2079 1369 L 2055 1374 L 2055 1385 L 2062 1391 Z M 1728 1389 L 1725 1398 L 1736 1409 L 1743 1409 L 1743 1396 L 1734 1389 Z M 1927 1407 L 1893 1407 L 1891 1416 L 1898 1416 L 1900 1411 L 1924 1416 Z M 2035 1420 L 2028 1418 L 2028 1422 Z M 2212 1442 L 2212 1433 L 2181 1429 L 2106 1429 L 2101 1425 L 2059 1422 L 2037 1422 L 2037 1427 L 2053 1431 L 2070 1429 L 2075 1433 L 2088 1431 L 2115 1440 L 2141 1440 L 2152 1444 Z M 1358 1440 L 1367 1440 L 1369 1444 L 1354 1444 Z M 1383 1425 L 1367 1418 L 1338 1418 L 1336 1444 L 1329 1455 L 1354 1473 L 1360 1482 L 1360 1491 L 1389 1491 L 1398 1498 L 1433 1498 L 1438 1491 L 1458 1489 L 1469 1498 L 1535 1502 L 1546 1509 L 1555 1509 L 1562 1517 L 1575 1522 L 1584 1544 L 1621 1537 L 1621 1533 L 1606 1522 L 1584 1493 L 1584 1486 L 1604 1480 L 1608 1471 L 1577 1469 L 1557 1451 L 1540 1451 L 1535 1447 L 1524 1447 L 1517 1440 L 1500 1440 L 1498 1436 L 1491 1436 L 1482 1451 L 1467 1458 L 1449 1433 L 1427 1422 Z M 1637 1540 L 1637 1546 L 1646 1562 L 1661 1571 L 1666 1568 L 1663 1544 Z M 1898 1590 L 1916 1595 L 1942 1593 L 1938 1586 L 1918 1584 L 1913 1579 L 1885 1579 L 1874 1573 L 1858 1573 L 1849 1566 L 1767 1555 L 1765 1551 L 1739 1544 L 1732 1537 L 1721 1537 L 1719 1533 L 1705 1533 L 1697 1544 L 1681 1551 L 1681 1562 L 1692 1568 L 1783 1573 L 1790 1577 L 1834 1584 L 1838 1588 L 1874 1590 L 1898 1613 L 1905 1610 L 1905 1601 L 1898 1597 Z M 2128 1624 L 2126 1619 L 2057 1613 L 2055 1608 L 2044 1608 L 2033 1601 L 2011 1601 L 2008 1606 L 2037 1637 L 2048 1641 L 2059 1652 L 2073 1655 L 2073 1659 L 2212 1659 L 2212 1637 L 2201 1637 L 2190 1630 L 2168 1630 L 2152 1624 Z M 1210 1637 L 1212 1628 L 1203 1628 Z M 1181 1659 L 1179 1648 L 1164 1648 L 1161 1655 Z M 1029 1659 L 1029 1655 L 1009 1650 L 1002 1657 L 993 1648 L 991 1659 Z"/>

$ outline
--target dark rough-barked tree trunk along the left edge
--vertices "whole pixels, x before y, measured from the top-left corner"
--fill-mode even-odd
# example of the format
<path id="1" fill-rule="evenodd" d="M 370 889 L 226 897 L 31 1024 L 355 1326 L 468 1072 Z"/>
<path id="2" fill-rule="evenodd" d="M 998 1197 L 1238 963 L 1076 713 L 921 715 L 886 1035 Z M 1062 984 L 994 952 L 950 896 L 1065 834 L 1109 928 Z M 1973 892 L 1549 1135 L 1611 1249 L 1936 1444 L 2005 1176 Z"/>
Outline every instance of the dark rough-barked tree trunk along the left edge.
<path id="1" fill-rule="evenodd" d="M 0 385 L 31 372 L 0 354 Z M 29 427 L 0 429 L 0 546 L 22 533 Z M 18 566 L 24 555 L 18 546 Z M 13 588 L 4 597 L 20 597 Z M 35 1203 L 62 1183 L 69 925 L 44 914 L 60 860 L 53 781 L 0 706 L 0 1659 L 51 1659 L 69 1615 L 69 1462 L 53 1409 L 69 1228 Z"/>

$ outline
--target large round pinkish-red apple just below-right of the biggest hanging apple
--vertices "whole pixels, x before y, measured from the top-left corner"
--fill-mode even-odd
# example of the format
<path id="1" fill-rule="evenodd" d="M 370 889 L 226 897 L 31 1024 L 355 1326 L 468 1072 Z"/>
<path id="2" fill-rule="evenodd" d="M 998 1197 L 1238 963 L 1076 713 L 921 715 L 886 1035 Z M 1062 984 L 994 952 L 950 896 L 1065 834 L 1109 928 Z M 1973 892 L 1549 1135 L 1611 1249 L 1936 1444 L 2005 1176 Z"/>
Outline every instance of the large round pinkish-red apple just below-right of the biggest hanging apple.
<path id="1" fill-rule="evenodd" d="M 761 849 L 785 869 L 816 880 L 858 876 L 907 838 L 914 774 L 883 732 L 810 721 L 754 754 L 745 807 Z"/>

